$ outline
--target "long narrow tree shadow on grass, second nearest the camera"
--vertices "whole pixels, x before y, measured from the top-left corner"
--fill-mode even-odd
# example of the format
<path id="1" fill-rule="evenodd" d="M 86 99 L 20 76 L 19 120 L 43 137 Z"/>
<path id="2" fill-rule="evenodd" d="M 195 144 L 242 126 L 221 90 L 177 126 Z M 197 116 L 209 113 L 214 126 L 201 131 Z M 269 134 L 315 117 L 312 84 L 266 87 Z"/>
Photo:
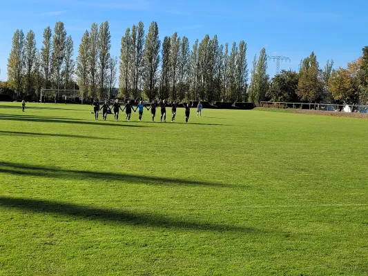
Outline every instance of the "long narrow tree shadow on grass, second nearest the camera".
<path id="1" fill-rule="evenodd" d="M 91 180 L 91 181 L 122 181 L 124 184 L 148 184 L 148 185 L 165 185 L 178 186 L 197 185 L 197 186 L 213 186 L 223 188 L 235 188 L 235 184 L 220 184 L 206 181 L 197 181 L 191 179 L 177 179 L 168 177 L 155 177 L 148 175 L 132 175 L 128 173 L 119 172 L 91 172 L 87 170 L 65 170 L 50 166 L 32 166 L 26 164 L 17 164 L 12 162 L 1 161 L 0 172 L 5 172 L 10 175 L 21 175 L 25 177 L 49 177 L 52 179 L 77 179 L 77 180 Z M 242 186 L 244 188 L 244 186 Z"/>

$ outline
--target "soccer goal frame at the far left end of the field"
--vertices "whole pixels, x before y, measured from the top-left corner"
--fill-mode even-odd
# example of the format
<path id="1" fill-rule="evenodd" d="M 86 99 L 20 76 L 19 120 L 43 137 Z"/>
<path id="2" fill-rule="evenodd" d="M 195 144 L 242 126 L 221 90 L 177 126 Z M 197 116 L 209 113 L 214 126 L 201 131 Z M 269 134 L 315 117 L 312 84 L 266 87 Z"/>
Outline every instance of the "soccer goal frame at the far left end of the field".
<path id="1" fill-rule="evenodd" d="M 83 103 L 79 90 L 41 89 L 40 103 Z"/>

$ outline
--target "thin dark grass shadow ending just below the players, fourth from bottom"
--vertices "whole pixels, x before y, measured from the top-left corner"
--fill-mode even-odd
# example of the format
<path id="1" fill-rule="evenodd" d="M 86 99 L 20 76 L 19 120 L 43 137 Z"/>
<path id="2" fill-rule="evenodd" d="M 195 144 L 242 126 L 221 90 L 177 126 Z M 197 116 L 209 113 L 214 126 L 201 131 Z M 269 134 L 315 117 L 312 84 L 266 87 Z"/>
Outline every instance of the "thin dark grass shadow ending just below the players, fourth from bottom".
<path id="1" fill-rule="evenodd" d="M 64 124 L 81 124 L 81 125 L 90 125 L 90 126 L 118 126 L 118 127 L 124 127 L 124 126 L 131 126 L 131 127 L 135 127 L 135 128 L 140 128 L 140 127 L 145 127 L 147 128 L 148 126 L 137 126 L 137 125 L 130 125 L 130 124 L 118 124 L 117 122 L 115 122 L 115 124 L 111 124 L 108 121 L 74 121 L 75 119 L 70 119 L 70 118 L 64 118 L 61 119 L 61 117 L 59 117 L 59 119 L 47 119 L 47 118 L 52 118 L 52 117 L 35 117 L 35 116 L 12 116 L 12 115 L 0 115 L 0 120 L 7 120 L 7 121 L 34 121 L 34 122 L 39 122 L 39 123 L 64 123 Z"/>

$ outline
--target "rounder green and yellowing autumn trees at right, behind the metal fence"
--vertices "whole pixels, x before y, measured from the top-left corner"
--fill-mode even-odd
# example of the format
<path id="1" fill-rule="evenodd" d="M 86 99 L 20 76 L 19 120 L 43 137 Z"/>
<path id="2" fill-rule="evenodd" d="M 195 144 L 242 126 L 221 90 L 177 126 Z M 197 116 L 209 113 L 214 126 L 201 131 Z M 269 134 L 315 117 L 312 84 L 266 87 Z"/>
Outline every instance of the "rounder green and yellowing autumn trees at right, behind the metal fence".
<path id="1" fill-rule="evenodd" d="M 282 70 L 265 88 L 265 100 L 305 103 L 368 104 L 368 46 L 362 57 L 333 69 L 321 69 L 314 52 L 300 62 L 299 71 Z"/>

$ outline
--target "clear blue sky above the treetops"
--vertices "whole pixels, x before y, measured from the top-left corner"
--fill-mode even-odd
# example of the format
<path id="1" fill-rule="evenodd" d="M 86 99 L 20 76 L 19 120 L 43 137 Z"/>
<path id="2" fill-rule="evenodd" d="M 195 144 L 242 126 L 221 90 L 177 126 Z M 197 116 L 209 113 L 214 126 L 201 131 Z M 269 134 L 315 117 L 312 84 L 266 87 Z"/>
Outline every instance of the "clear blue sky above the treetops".
<path id="1" fill-rule="evenodd" d="M 192 44 L 205 34 L 217 34 L 220 43 L 246 41 L 249 68 L 253 56 L 265 47 L 268 55 L 283 55 L 291 63 L 281 68 L 298 69 L 300 59 L 314 51 L 324 67 L 328 59 L 335 67 L 346 66 L 358 58 L 368 45 L 368 1 L 353 0 L 2 0 L 0 3 L 0 80 L 6 79 L 6 65 L 14 31 L 32 29 L 37 48 L 41 48 L 46 26 L 53 29 L 63 21 L 75 43 L 75 54 L 81 35 L 93 22 L 108 20 L 111 53 L 119 55 L 120 39 L 127 27 L 142 20 L 146 29 L 157 21 L 159 36 L 178 32 Z M 269 75 L 275 63 L 269 61 Z"/>

